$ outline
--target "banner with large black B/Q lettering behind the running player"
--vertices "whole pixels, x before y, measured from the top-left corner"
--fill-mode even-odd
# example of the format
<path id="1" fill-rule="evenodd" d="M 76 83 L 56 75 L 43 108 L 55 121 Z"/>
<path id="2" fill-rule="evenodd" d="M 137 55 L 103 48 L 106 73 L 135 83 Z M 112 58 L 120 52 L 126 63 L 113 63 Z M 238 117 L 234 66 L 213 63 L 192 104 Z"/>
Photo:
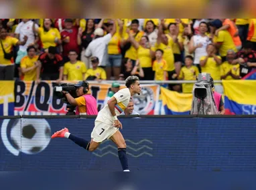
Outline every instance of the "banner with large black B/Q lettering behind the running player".
<path id="1" fill-rule="evenodd" d="M 70 83 L 70 81 L 62 81 Z M 54 81 L 15 82 L 15 115 L 66 115 L 66 103 L 54 96 Z M 141 115 L 153 115 L 159 97 L 159 85 L 141 85 L 141 95 L 134 95 L 134 109 Z M 124 87 L 124 86 L 121 86 Z M 102 109 L 111 84 L 90 83 L 90 91 Z"/>

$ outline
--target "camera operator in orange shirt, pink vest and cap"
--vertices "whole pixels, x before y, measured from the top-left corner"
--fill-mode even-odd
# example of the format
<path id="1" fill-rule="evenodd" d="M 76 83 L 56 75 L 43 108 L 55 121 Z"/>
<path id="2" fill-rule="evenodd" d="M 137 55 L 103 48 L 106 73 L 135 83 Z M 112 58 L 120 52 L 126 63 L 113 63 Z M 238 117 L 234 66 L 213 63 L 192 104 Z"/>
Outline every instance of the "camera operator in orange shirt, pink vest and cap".
<path id="1" fill-rule="evenodd" d="M 76 85 L 76 96 L 72 97 L 68 91 L 62 91 L 66 96 L 68 103 L 72 106 L 76 106 L 76 115 L 97 115 L 97 101 L 88 94 L 89 84 L 87 81 L 79 81 Z"/>

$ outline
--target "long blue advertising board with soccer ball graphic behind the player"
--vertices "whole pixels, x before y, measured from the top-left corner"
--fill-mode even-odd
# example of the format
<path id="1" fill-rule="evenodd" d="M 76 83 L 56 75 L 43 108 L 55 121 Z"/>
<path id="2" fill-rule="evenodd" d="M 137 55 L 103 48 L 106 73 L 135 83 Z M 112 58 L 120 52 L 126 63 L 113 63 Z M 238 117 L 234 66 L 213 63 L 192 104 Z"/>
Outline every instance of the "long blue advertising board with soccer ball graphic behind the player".
<path id="1" fill-rule="evenodd" d="M 90 139 L 94 116 L 0 117 L 0 171 L 121 171 L 117 148 L 90 153 L 64 127 Z M 256 171 L 256 116 L 120 117 L 131 171 Z M 131 125 L 132 123 L 132 125 Z"/>

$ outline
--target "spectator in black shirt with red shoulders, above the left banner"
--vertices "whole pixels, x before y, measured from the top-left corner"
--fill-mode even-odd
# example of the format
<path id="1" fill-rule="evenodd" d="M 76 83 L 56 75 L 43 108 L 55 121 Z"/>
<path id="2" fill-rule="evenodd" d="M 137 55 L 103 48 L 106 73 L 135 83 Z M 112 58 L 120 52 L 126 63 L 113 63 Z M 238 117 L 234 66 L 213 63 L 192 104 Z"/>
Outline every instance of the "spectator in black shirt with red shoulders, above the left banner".
<path id="1" fill-rule="evenodd" d="M 62 56 L 57 54 L 57 48 L 50 46 L 48 53 L 42 53 L 38 61 L 40 61 L 40 67 L 36 75 L 36 80 L 40 83 L 42 80 L 56 80 L 56 83 L 62 81 L 63 75 L 63 59 Z"/>

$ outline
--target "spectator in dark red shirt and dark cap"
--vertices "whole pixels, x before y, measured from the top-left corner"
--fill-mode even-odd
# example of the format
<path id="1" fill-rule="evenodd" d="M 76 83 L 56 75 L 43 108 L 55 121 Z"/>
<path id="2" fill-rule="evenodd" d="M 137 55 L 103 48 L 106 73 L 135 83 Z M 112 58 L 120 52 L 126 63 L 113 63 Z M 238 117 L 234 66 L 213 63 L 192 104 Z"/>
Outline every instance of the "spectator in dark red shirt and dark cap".
<path id="1" fill-rule="evenodd" d="M 64 30 L 60 33 L 62 39 L 62 55 L 64 59 L 64 63 L 68 62 L 68 53 L 70 50 L 76 51 L 78 57 L 80 57 L 80 51 L 77 43 L 78 37 L 78 26 L 73 25 L 73 19 L 65 19 Z"/>

